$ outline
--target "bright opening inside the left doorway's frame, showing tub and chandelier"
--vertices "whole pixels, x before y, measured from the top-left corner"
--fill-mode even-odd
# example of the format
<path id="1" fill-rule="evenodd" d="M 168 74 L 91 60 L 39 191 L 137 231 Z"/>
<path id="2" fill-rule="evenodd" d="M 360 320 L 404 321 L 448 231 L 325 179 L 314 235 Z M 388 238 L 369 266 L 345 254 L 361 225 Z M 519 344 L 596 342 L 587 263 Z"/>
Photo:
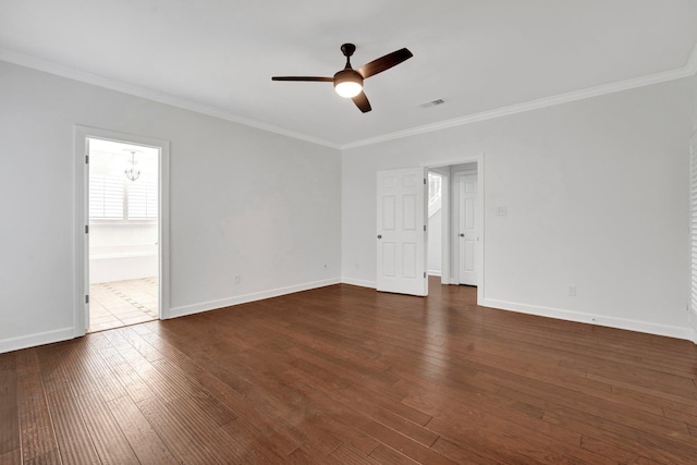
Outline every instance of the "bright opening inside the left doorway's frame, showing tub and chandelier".
<path id="1" fill-rule="evenodd" d="M 159 149 L 87 138 L 87 332 L 159 318 Z"/>

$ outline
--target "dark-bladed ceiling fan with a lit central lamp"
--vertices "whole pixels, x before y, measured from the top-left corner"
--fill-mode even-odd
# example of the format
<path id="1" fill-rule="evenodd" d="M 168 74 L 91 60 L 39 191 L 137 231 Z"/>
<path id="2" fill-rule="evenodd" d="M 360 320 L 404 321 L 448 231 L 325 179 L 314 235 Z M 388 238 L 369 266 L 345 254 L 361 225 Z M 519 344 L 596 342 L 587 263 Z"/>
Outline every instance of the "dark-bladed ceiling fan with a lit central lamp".
<path id="1" fill-rule="evenodd" d="M 346 65 L 343 70 L 334 74 L 334 77 L 317 77 L 317 76 L 273 76 L 271 81 L 315 81 L 322 83 L 334 83 L 334 90 L 337 94 L 344 98 L 350 98 L 356 103 L 356 107 L 364 113 L 371 110 L 368 97 L 363 91 L 363 81 L 370 76 L 375 76 L 392 66 L 400 64 L 401 62 L 408 60 L 413 57 L 412 52 L 403 48 L 392 53 L 388 53 L 384 57 L 380 57 L 377 60 L 372 60 L 370 63 L 364 64 L 357 70 L 351 68 L 351 56 L 356 51 L 356 46 L 353 44 L 344 44 L 341 46 L 341 51 L 346 57 Z"/>

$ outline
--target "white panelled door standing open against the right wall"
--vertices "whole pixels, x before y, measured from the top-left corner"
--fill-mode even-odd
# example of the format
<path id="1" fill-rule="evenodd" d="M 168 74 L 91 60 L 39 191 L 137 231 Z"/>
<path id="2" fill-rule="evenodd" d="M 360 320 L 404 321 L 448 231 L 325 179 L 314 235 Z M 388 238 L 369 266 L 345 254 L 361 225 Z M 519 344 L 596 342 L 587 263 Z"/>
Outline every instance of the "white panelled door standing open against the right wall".
<path id="1" fill-rule="evenodd" d="M 428 295 L 425 180 L 423 168 L 378 172 L 378 291 Z"/>

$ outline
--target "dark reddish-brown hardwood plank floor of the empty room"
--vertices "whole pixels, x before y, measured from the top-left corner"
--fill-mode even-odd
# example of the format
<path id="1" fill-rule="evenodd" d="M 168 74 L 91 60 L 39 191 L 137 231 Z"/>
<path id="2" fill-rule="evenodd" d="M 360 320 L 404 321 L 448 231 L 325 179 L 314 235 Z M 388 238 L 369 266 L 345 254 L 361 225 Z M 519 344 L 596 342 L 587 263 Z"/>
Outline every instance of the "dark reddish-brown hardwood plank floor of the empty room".
<path id="1" fill-rule="evenodd" d="M 697 464 L 697 346 L 334 285 L 0 355 L 0 464 Z"/>

